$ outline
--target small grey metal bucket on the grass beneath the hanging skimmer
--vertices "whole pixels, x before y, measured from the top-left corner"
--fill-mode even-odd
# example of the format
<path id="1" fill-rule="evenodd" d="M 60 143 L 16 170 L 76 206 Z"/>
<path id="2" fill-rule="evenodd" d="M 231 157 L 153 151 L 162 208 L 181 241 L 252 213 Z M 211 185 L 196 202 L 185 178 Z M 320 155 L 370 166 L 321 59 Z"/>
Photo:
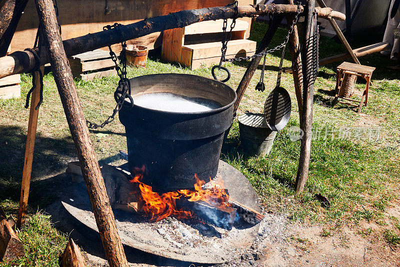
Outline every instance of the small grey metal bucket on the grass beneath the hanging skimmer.
<path id="1" fill-rule="evenodd" d="M 265 122 L 265 115 L 246 112 L 237 117 L 241 146 L 249 155 L 268 155 L 276 132 Z"/>

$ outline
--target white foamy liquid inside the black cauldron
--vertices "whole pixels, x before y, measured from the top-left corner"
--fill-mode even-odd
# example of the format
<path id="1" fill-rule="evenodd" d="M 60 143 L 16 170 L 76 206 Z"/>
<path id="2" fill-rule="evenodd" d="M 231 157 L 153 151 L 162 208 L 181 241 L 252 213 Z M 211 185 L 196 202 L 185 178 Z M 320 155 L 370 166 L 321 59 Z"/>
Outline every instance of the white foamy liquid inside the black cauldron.
<path id="1" fill-rule="evenodd" d="M 172 93 L 143 94 L 133 98 L 136 106 L 169 112 L 202 112 L 220 108 L 221 105 L 206 100 L 180 97 Z"/>

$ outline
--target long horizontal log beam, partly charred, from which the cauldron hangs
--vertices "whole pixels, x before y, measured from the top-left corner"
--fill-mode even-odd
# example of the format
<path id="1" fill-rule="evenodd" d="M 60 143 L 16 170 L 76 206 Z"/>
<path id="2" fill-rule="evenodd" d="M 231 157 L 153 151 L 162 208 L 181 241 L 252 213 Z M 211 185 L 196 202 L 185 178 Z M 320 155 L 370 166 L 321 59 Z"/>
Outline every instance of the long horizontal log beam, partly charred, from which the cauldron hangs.
<path id="1" fill-rule="evenodd" d="M 303 11 L 303 9 L 301 9 Z M 239 16 L 263 16 L 268 14 L 288 14 L 295 13 L 297 6 L 294 5 L 260 5 L 238 7 Z M 321 9 L 324 17 L 344 20 L 345 16 L 341 13 L 327 8 Z M 162 32 L 168 29 L 182 28 L 187 25 L 219 19 L 229 19 L 234 16 L 233 7 L 204 8 L 198 10 L 184 10 L 171 13 L 165 16 L 145 19 L 143 21 L 121 26 L 120 29 L 112 29 L 94 34 L 64 40 L 63 46 L 66 55 L 74 56 L 87 51 L 92 51 L 108 45 L 120 43 L 123 40 L 139 38 L 155 32 Z M 38 51 L 38 49 L 36 50 Z M 44 51 L 44 49 L 41 49 Z M 49 59 L 43 52 L 40 57 L 40 65 L 49 63 Z M 30 52 L 17 51 L 7 57 L 0 58 L 0 78 L 11 75 L 29 72 L 35 66 L 35 60 Z"/>

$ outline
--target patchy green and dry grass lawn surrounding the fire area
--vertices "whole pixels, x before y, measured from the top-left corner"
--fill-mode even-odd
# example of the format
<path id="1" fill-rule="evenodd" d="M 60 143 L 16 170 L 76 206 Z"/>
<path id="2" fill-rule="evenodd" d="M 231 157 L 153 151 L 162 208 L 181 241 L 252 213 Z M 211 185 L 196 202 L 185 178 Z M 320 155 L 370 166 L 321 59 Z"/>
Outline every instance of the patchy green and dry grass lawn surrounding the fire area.
<path id="1" fill-rule="evenodd" d="M 259 42 L 266 27 L 255 23 L 250 39 Z M 279 44 L 286 34 L 278 29 L 270 47 Z M 369 37 L 369 44 L 376 41 Z M 380 38 L 380 37 L 379 37 Z M 362 39 L 352 42 L 352 47 L 366 43 Z M 377 43 L 377 42 L 376 42 Z M 343 53 L 343 48 L 332 39 L 320 39 L 320 57 Z M 290 66 L 289 53 L 285 54 L 284 67 Z M 288 214 L 292 221 L 309 221 L 323 224 L 321 236 L 330 236 L 341 226 L 356 225 L 360 221 L 386 223 L 385 209 L 398 199 L 400 178 L 400 80 L 398 74 L 385 68 L 387 61 L 376 54 L 360 58 L 361 64 L 376 67 L 372 76 L 373 86 L 369 92 L 369 105 L 359 116 L 347 106 L 330 107 L 335 86 L 335 67 L 329 64 L 320 68 L 315 82 L 313 128 L 324 131 L 342 130 L 342 127 L 368 129 L 380 127 L 378 140 L 350 140 L 338 136 L 315 139 L 312 142 L 309 177 L 304 191 L 294 196 L 299 141 L 289 139 L 289 127 L 298 127 L 298 109 L 289 74 L 282 75 L 281 85 L 286 88 L 292 101 L 292 116 L 282 131 L 278 132 L 270 154 L 254 157 L 243 153 L 238 124 L 235 121 L 227 142 L 222 148 L 221 159 L 240 170 L 259 194 L 263 206 L 268 210 Z M 264 83 L 265 92 L 254 91 L 260 77 L 260 68 L 255 71 L 248 90 L 240 102 L 238 114 L 246 110 L 261 112 L 266 96 L 276 83 L 279 52 L 267 56 Z M 227 82 L 236 88 L 247 63 L 225 64 L 231 71 Z M 153 73 L 188 73 L 211 78 L 210 67 L 190 71 L 150 55 L 146 69 L 128 68 L 129 78 Z M 27 91 L 31 87 L 31 76 L 21 75 L 21 98 L 0 100 L 0 206 L 7 214 L 15 215 L 18 209 L 19 188 L 22 173 L 28 111 L 23 108 Z M 113 92 L 117 77 L 105 77 L 94 81 L 75 81 L 85 117 L 102 122 L 114 108 Z M 362 88 L 357 84 L 357 88 Z M 57 178 L 65 170 L 66 163 L 76 160 L 76 152 L 65 121 L 62 105 L 53 76 L 44 76 L 44 102 L 40 107 L 38 133 L 32 167 L 32 183 L 29 195 L 27 225 L 18 235 L 25 243 L 26 255 L 17 263 L 26 265 L 36 260 L 37 266 L 56 266 L 66 237 L 57 232 L 45 215 L 45 207 L 62 191 L 67 181 Z M 93 146 L 100 164 L 118 159 L 118 150 L 126 150 L 123 126 L 118 119 L 105 129 L 90 131 Z M 319 193 L 326 196 L 331 205 L 321 206 L 314 198 Z M 37 212 L 37 210 L 43 210 Z M 395 227 L 397 220 L 389 219 Z M 387 224 L 387 223 L 386 223 Z M 367 234 L 363 232 L 361 234 Z M 390 244 L 398 244 L 398 235 L 386 231 L 384 237 Z M 341 238 L 346 243 L 346 237 Z M 301 242 L 301 241 L 299 241 Z M 4 266 L 1 265 L 1 266 Z"/>

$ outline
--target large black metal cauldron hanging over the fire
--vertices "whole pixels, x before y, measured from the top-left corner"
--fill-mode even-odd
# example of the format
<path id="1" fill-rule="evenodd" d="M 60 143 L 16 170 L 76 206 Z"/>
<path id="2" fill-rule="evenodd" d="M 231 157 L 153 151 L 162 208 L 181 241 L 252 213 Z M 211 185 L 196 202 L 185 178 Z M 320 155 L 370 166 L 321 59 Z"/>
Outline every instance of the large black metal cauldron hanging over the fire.
<path id="1" fill-rule="evenodd" d="M 145 166 L 143 182 L 162 190 L 190 189 L 200 179 L 213 178 L 224 132 L 230 127 L 236 93 L 224 83 L 188 74 L 153 74 L 129 80 L 131 96 L 172 93 L 217 103 L 202 112 L 168 112 L 134 105 L 123 107 L 128 167 Z"/>

